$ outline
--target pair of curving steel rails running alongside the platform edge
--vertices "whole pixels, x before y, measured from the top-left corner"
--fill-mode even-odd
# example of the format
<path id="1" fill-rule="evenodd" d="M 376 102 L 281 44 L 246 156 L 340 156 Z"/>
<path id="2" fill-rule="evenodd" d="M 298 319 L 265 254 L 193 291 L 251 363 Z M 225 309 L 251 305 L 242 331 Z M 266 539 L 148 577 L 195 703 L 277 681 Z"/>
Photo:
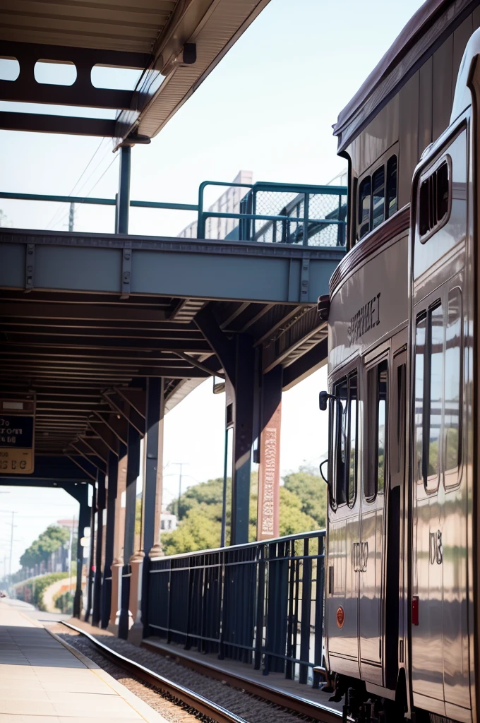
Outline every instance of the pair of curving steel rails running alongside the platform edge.
<path id="1" fill-rule="evenodd" d="M 192 706 L 192 708 L 204 715 L 209 716 L 216 722 L 249 723 L 244 718 L 241 718 L 235 713 L 232 713 L 226 708 L 223 708 L 223 706 L 219 706 L 218 703 L 214 703 L 208 698 L 201 696 L 200 693 L 195 693 L 194 690 L 185 688 L 184 685 L 179 685 L 179 683 L 173 683 L 173 680 L 168 680 L 168 678 L 163 677 L 163 675 L 159 675 L 153 670 L 146 668 L 142 664 L 137 663 L 134 660 L 130 660 L 129 658 L 126 658 L 120 653 L 117 653 L 116 651 L 106 646 L 104 643 L 100 643 L 100 641 L 98 641 L 93 635 L 85 632 L 85 630 L 82 630 L 82 628 L 77 628 L 75 625 L 72 625 L 71 623 L 66 623 L 64 620 L 60 620 L 59 622 L 61 622 L 61 624 L 65 625 L 67 628 L 74 630 L 76 633 L 80 633 L 80 635 L 85 636 L 85 638 L 88 638 L 88 640 L 93 643 L 93 646 L 95 646 L 95 648 L 98 649 L 98 651 L 100 651 L 103 656 L 111 660 L 111 662 L 115 663 L 119 667 L 126 669 L 127 672 L 131 673 L 132 675 L 136 675 L 141 680 L 145 680 L 145 683 L 153 685 L 154 688 L 158 688 L 159 690 L 163 690 L 163 692 L 165 693 L 179 698 L 183 703 L 187 703 L 187 705 Z M 150 651 L 155 651 L 155 653 L 157 654 L 161 654 L 160 651 L 158 649 L 155 649 L 153 646 L 145 646 L 145 649 L 149 649 Z M 189 662 L 192 663 L 191 661 Z M 214 670 L 210 669 L 210 667 L 201 666 L 200 664 L 192 665 L 189 664 L 189 662 L 187 662 L 185 659 L 182 659 L 182 664 L 187 664 L 187 667 L 191 667 L 192 669 L 202 672 L 203 675 L 218 677 L 218 675 L 215 675 Z M 248 681 L 247 685 L 247 681 L 243 678 L 237 678 L 231 673 L 226 673 L 225 671 L 223 671 L 222 677 L 224 680 L 228 680 L 228 682 L 234 688 L 243 688 L 244 690 L 248 690 L 249 693 L 253 693 L 255 696 L 258 696 L 263 700 L 268 700 L 272 703 L 282 706 L 283 708 L 290 709 L 291 711 L 296 713 L 309 715 L 314 719 L 317 719 L 321 723 L 338 723 L 338 720 L 341 718 L 341 714 L 337 713 L 337 711 L 333 711 L 331 709 L 322 709 L 322 706 L 305 705 L 306 701 L 304 701 L 299 696 L 295 696 L 290 693 L 280 693 L 277 690 L 267 690 L 267 686 L 255 685 L 251 681 Z"/>

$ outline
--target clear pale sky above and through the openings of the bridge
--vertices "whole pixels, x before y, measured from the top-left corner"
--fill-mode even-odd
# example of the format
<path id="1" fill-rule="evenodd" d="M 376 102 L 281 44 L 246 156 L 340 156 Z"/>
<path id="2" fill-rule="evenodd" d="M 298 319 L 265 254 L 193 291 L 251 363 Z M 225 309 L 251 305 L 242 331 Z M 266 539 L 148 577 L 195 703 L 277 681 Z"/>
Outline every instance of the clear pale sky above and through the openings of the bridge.
<path id="1" fill-rule="evenodd" d="M 331 128 L 338 112 L 421 4 L 270 0 L 151 145 L 132 149 L 132 198 L 196 203 L 201 181 L 229 181 L 241 168 L 253 171 L 254 181 L 329 181 L 345 167 Z M 1 109 L 13 105 L 0 102 Z M 68 194 L 99 143 L 0 131 L 0 189 Z M 111 142 L 105 140 L 75 194 L 113 197 L 118 161 L 100 179 L 112 160 Z M 67 205 L 0 200 L 0 208 L 7 226 L 64 230 L 67 224 Z M 192 220 L 185 212 L 133 209 L 129 231 L 175 236 Z M 77 208 L 75 230 L 112 231 L 113 210 Z M 213 395 L 211 383 L 166 416 L 166 502 L 178 490 L 175 462 L 187 463 L 184 487 L 223 474 L 225 400 Z M 326 384 L 324 367 L 283 395 L 283 474 L 304 463 L 317 465 L 325 455 L 327 425 L 318 411 L 318 392 Z M 77 514 L 77 503 L 61 490 L 1 489 L 9 494 L 0 495 L 0 576 L 9 557 L 9 510 L 18 513 L 13 570 L 48 523 Z M 8 565 L 7 559 L 7 570 Z"/>

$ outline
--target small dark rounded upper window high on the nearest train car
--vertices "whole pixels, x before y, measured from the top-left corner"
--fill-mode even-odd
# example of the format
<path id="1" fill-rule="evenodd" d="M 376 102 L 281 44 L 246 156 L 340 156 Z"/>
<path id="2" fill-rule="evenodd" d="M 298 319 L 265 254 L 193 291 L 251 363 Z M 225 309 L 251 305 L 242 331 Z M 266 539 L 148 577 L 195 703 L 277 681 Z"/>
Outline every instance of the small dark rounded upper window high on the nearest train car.
<path id="1" fill-rule="evenodd" d="M 456 140 L 456 137 L 455 137 Z M 442 168 L 447 168 L 447 210 L 441 218 L 437 218 L 437 207 L 438 207 L 438 174 L 442 171 Z M 419 179 L 417 188 L 417 221 L 416 221 L 416 233 L 421 244 L 426 244 L 429 239 L 437 234 L 448 221 L 450 221 L 450 214 L 452 213 L 452 186 L 453 186 L 453 171 L 452 171 L 452 158 L 449 153 L 444 153 L 432 166 Z M 427 192 L 432 189 L 432 194 L 427 196 Z M 425 200 L 427 196 L 427 201 Z M 427 207 L 427 210 L 426 210 Z M 422 218 L 425 215 L 429 216 L 429 227 L 426 231 L 421 231 Z"/>

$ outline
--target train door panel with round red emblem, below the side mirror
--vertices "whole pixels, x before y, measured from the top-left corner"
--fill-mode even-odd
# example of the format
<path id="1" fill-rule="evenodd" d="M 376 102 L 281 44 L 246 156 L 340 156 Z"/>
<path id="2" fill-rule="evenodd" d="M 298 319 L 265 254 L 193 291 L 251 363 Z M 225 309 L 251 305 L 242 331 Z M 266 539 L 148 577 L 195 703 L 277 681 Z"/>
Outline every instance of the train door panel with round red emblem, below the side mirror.
<path id="1" fill-rule="evenodd" d="M 351 369 L 333 383 L 330 400 L 327 534 L 327 640 L 330 667 L 359 676 L 359 375 Z"/>

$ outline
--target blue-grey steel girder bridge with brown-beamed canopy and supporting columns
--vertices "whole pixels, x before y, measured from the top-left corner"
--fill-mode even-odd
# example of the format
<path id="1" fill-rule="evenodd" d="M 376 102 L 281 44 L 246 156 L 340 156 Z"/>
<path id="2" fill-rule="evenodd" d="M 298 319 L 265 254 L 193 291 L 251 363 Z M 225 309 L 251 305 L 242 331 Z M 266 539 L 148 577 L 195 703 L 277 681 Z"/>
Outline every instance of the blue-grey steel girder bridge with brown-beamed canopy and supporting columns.
<path id="1" fill-rule="evenodd" d="M 155 10 L 147 2 L 94 10 L 60 3 L 55 22 L 50 5 L 40 1 L 33 13 L 23 4 L 0 10 L 2 55 L 20 64 L 17 80 L 0 80 L 1 100 L 114 108 L 117 115 L 105 121 L 7 110 L 0 128 L 110 136 L 121 161 L 116 200 L 90 200 L 116 203 L 114 234 L 0 228 L 0 400 L 27 395 L 36 408 L 34 469 L 1 471 L 0 484 L 63 487 L 79 500 L 79 540 L 85 527 L 92 536 L 96 530 L 86 613 L 126 636 L 129 611 L 145 625 L 149 560 L 160 552 L 163 418 L 209 377 L 225 385 L 233 427 L 231 542 L 247 542 L 252 444 L 282 390 L 326 360 L 316 302 L 345 252 L 346 189 L 257 184 L 241 213 L 230 214 L 237 240 L 202 238 L 209 214 L 200 189 L 191 207 L 199 238 L 129 235 L 130 206 L 148 205 L 130 200 L 132 147 L 150 142 L 267 0 L 166 0 Z M 73 62 L 77 81 L 39 85 L 39 59 Z M 96 89 L 95 64 L 142 69 L 137 88 Z M 267 192 L 287 200 L 259 213 L 255 199 Z M 333 210 L 314 212 L 323 197 L 333 197 Z M 134 549 L 142 439 L 142 539 Z M 80 615 L 80 547 L 78 560 Z"/>

